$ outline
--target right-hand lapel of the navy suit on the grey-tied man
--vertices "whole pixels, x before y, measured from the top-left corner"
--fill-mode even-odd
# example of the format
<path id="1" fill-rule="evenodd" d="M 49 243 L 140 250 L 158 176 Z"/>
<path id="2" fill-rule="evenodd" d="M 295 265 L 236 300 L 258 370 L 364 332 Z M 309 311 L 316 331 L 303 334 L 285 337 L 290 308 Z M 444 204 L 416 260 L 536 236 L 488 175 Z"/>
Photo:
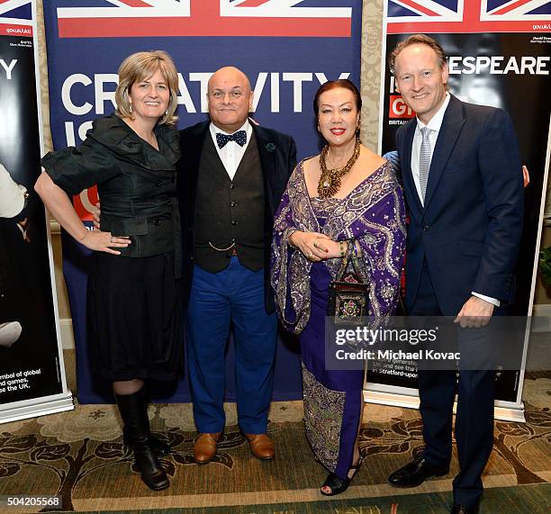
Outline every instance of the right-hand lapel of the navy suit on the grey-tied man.
<path id="1" fill-rule="evenodd" d="M 461 102 L 451 95 L 430 161 L 429 182 L 427 184 L 427 194 L 425 194 L 425 210 L 429 207 L 430 200 L 436 191 L 440 177 L 444 172 L 452 150 L 456 146 L 457 137 L 464 124 L 465 117 Z"/>

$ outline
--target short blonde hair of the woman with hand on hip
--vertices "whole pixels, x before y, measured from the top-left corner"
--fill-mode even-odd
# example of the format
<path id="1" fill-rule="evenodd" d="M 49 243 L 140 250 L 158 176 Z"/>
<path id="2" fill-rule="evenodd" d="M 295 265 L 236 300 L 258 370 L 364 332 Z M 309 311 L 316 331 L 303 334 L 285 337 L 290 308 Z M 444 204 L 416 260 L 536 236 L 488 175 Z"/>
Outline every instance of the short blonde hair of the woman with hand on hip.
<path id="1" fill-rule="evenodd" d="M 170 90 L 167 113 L 159 119 L 158 124 L 173 125 L 176 123 L 176 107 L 178 106 L 178 73 L 174 61 L 163 50 L 140 51 L 133 53 L 122 61 L 119 67 L 119 86 L 115 91 L 117 114 L 122 118 L 131 118 L 131 102 L 128 92 L 136 82 L 147 80 L 160 70 Z"/>

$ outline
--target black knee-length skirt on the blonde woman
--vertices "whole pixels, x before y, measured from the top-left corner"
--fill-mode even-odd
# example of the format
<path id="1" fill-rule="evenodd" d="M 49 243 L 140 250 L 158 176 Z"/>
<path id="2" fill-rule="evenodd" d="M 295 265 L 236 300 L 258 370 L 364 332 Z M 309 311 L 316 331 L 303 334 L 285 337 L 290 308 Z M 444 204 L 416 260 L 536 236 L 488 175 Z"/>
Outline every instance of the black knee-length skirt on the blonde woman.
<path id="1" fill-rule="evenodd" d="M 172 380 L 180 374 L 184 307 L 172 252 L 153 257 L 96 252 L 86 298 L 95 373 L 111 382 Z"/>

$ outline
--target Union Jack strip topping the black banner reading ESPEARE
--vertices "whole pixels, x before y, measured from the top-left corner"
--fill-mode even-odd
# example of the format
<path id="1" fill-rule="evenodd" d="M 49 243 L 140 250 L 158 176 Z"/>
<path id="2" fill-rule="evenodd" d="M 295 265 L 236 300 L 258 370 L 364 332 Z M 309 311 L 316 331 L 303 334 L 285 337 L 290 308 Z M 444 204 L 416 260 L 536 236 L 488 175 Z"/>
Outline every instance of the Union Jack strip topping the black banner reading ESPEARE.
<path id="1" fill-rule="evenodd" d="M 389 0 L 387 32 L 551 32 L 551 1 Z"/>

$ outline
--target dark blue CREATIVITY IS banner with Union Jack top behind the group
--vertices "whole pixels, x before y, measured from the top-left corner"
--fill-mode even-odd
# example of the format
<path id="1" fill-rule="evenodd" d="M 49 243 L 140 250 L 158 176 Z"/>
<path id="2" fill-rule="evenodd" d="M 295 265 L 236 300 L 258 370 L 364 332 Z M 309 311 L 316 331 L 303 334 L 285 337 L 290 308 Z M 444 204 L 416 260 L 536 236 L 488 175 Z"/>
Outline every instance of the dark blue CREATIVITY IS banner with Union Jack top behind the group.
<path id="1" fill-rule="evenodd" d="M 362 0 L 44 1 L 54 147 L 78 145 L 95 118 L 113 113 L 117 69 L 123 59 L 139 50 L 166 50 L 179 72 L 180 128 L 208 119 L 209 78 L 222 66 L 236 66 L 254 90 L 255 122 L 292 135 L 299 158 L 315 155 L 320 151 L 312 112 L 316 91 L 336 78 L 349 77 L 359 86 L 362 4 Z M 92 189 L 75 197 L 83 219 L 90 219 L 94 203 Z M 75 243 L 66 243 L 66 257 L 79 253 Z M 86 319 L 86 284 L 79 266 L 66 262 L 65 274 L 68 289 L 77 298 L 76 338 L 84 339 L 84 325 L 76 325 Z M 77 340 L 79 401 L 105 401 L 91 382 L 82 343 Z M 278 358 L 284 360 L 275 366 L 276 392 L 279 387 L 281 393 L 293 383 L 289 369 L 300 370 L 298 360 L 285 362 L 285 352 L 278 350 Z M 189 400 L 185 384 L 172 398 Z"/>

